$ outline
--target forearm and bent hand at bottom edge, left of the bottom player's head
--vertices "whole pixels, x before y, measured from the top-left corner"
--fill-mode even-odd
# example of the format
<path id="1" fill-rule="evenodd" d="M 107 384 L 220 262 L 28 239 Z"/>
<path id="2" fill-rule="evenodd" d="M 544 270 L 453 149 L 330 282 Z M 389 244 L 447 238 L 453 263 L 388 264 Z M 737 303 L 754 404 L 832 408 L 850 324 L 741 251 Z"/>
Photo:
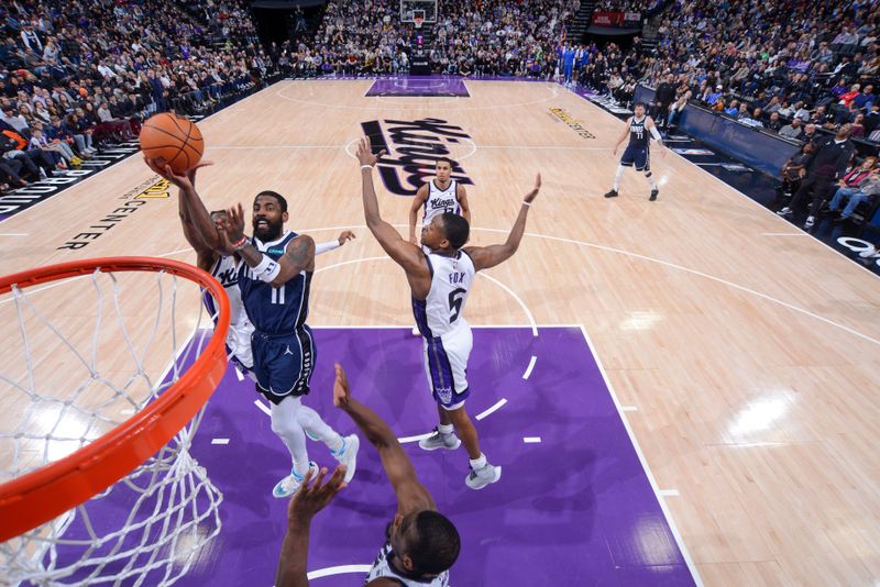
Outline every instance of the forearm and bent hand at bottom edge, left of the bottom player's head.
<path id="1" fill-rule="evenodd" d="M 345 465 L 339 465 L 326 484 L 321 484 L 327 469 L 322 468 L 315 483 L 311 470 L 306 473 L 302 485 L 290 499 L 287 507 L 287 532 L 284 534 L 278 569 L 275 572 L 275 587 L 307 587 L 306 568 L 309 561 L 309 531 L 311 519 L 321 511 L 333 497 L 346 487 Z"/>

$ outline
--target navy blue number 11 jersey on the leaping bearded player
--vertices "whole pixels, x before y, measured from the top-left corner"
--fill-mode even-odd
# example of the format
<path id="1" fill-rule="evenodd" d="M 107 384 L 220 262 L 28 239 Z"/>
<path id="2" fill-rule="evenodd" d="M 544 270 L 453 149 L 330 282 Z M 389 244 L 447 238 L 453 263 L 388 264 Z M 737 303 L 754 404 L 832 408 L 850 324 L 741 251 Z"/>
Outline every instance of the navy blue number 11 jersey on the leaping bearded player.
<path id="1" fill-rule="evenodd" d="M 286 231 L 280 239 L 263 243 L 257 237 L 251 239 L 257 251 L 278 261 L 284 255 L 287 244 L 298 235 Z M 258 332 L 268 335 L 293 334 L 306 323 L 309 313 L 309 287 L 311 272 L 299 272 L 299 275 L 286 284 L 273 287 L 255 279 L 253 269 L 241 264 L 239 289 L 244 310 Z"/>

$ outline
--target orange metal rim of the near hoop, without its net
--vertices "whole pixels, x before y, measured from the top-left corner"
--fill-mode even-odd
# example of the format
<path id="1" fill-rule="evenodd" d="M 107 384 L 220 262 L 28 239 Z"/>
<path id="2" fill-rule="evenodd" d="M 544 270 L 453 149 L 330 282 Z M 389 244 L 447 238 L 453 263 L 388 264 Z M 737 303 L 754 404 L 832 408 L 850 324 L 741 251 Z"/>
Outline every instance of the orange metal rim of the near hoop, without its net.
<path id="1" fill-rule="evenodd" d="M 106 257 L 62 263 L 0 277 L 0 295 L 101 270 L 165 272 L 186 277 L 219 301 L 213 336 L 176 384 L 100 439 L 37 470 L 0 485 L 0 542 L 32 530 L 90 499 L 165 446 L 211 397 L 227 368 L 230 308 L 226 290 L 208 273 L 178 261 Z"/>

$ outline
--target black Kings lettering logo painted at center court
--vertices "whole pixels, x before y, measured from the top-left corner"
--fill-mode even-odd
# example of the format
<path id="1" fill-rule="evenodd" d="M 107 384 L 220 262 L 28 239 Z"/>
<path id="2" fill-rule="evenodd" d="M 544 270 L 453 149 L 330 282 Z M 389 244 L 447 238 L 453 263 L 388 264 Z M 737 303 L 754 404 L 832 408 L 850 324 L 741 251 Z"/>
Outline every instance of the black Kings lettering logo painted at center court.
<path id="1" fill-rule="evenodd" d="M 460 184 L 474 185 L 473 179 L 455 160 L 450 151 L 471 136 L 461 126 L 446 120 L 426 118 L 406 120 L 371 120 L 362 122 L 364 134 L 370 137 L 373 153 L 386 151 L 387 155 L 376 165 L 385 188 L 397 196 L 415 196 L 428 177 L 435 173 L 437 159 L 452 159 L 452 179 Z"/>

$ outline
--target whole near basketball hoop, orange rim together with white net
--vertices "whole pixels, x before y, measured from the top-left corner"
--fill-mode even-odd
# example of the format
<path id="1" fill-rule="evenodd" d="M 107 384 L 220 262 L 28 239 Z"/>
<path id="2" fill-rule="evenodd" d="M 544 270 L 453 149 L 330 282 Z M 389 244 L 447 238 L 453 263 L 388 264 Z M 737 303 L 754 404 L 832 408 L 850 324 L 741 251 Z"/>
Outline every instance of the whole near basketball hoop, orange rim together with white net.
<path id="1" fill-rule="evenodd" d="M 65 285 L 73 295 L 65 302 L 56 291 L 43 299 L 48 296 L 38 292 L 48 288 L 33 286 L 46 283 L 51 288 Z M 156 288 L 155 297 L 147 287 Z M 94 319 L 82 315 L 88 313 L 80 304 L 85 291 L 96 294 Z M 174 323 L 180 312 L 178 298 L 199 300 L 202 295 L 211 296 L 219 308 L 213 335 L 204 347 L 205 311 L 199 311 L 188 337 Z M 147 584 L 173 583 L 220 530 L 222 495 L 189 455 L 189 446 L 200 410 L 226 373 L 226 291 L 210 275 L 185 263 L 108 257 L 0 277 L 0 296 L 6 298 L 0 308 L 18 317 L 23 343 L 22 350 L 8 350 L 10 362 L 4 357 L 0 365 L 0 391 L 12 397 L 16 408 L 22 405 L 24 414 L 15 419 L 4 413 L 8 420 L 0 428 L 3 448 L 13 447 L 0 450 L 0 483 L 6 481 L 0 485 L 0 576 L 13 585 L 59 579 L 86 585 L 140 583 L 156 573 Z M 158 307 L 155 319 L 144 314 L 144 298 Z M 105 315 L 111 311 L 116 322 Z M 10 326 L 14 320 L 9 319 Z M 85 330 L 86 321 L 92 320 L 94 329 Z M 136 329 L 136 321 L 152 328 Z M 41 329 L 47 334 L 37 339 Z M 41 355 L 44 343 L 52 348 L 43 353 L 48 356 Z M 99 356 L 99 350 L 109 351 L 112 358 Z M 129 359 L 134 373 L 127 376 Z M 156 365 L 167 365 L 165 374 Z M 21 374 L 13 374 L 15 369 Z M 46 374 L 57 378 L 59 369 L 65 370 L 61 377 L 68 389 L 40 386 Z M 81 430 L 66 431 L 80 420 Z M 42 429 L 30 430 L 34 422 Z M 108 507 L 117 513 L 124 508 L 125 514 L 108 521 L 98 511 Z M 81 535 L 72 535 L 77 531 Z M 73 552 L 77 546 L 81 553 Z"/>

